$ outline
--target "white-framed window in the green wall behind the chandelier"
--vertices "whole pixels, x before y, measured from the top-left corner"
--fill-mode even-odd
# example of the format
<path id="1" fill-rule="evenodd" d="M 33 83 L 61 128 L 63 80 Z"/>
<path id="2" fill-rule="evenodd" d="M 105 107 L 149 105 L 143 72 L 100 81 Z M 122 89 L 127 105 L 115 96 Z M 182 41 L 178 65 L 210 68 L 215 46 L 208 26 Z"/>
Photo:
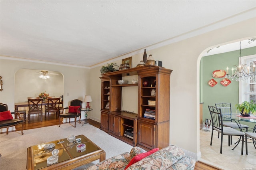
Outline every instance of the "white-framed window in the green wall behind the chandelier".
<path id="1" fill-rule="evenodd" d="M 250 66 L 250 73 L 254 72 L 256 67 L 253 66 L 256 65 L 256 55 L 241 57 L 241 63 L 246 63 Z M 239 103 L 251 100 L 256 102 L 256 77 L 239 82 Z"/>

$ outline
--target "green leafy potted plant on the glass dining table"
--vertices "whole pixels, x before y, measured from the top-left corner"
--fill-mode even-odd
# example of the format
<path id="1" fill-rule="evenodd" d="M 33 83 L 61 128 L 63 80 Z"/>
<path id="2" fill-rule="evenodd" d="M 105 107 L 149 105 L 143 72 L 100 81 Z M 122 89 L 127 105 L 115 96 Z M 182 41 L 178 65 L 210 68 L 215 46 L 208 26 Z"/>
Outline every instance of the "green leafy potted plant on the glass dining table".
<path id="1" fill-rule="evenodd" d="M 250 113 L 256 113 L 256 104 L 252 100 L 250 102 L 244 101 L 241 104 L 238 103 L 235 107 L 240 111 L 241 116 L 250 117 Z"/>

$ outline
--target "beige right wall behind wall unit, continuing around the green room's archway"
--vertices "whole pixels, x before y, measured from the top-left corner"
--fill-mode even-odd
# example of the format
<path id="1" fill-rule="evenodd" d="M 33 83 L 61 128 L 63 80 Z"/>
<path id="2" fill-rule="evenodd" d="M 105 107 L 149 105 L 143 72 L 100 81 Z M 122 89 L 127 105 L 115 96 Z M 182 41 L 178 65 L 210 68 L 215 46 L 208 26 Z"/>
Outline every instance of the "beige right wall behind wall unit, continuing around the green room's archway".
<path id="1" fill-rule="evenodd" d="M 186 150 L 193 157 L 200 157 L 199 143 L 199 71 L 200 59 L 208 49 L 241 39 L 256 37 L 256 18 L 226 28 L 214 30 L 180 42 L 147 50 L 154 59 L 162 61 L 163 67 L 172 69 L 170 79 L 170 144 Z M 147 48 L 146 48 L 147 49 Z M 132 55 L 132 67 L 143 57 Z M 118 60 L 116 63 L 120 64 Z M 94 112 L 92 118 L 100 120 L 100 67 L 90 71 L 90 89 L 94 91 Z M 124 101 L 129 102 L 129 101 Z"/>

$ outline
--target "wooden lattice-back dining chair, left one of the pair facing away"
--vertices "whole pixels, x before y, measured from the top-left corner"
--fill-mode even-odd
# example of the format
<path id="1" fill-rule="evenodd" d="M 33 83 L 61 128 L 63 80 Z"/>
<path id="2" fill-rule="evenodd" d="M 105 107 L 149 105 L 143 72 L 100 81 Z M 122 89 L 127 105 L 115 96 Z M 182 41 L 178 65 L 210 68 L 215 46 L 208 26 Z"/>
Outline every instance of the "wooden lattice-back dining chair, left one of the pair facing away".
<path id="1" fill-rule="evenodd" d="M 39 120 L 42 122 L 42 106 L 43 99 L 28 97 L 28 123 L 30 123 L 31 114 L 38 114 Z"/>

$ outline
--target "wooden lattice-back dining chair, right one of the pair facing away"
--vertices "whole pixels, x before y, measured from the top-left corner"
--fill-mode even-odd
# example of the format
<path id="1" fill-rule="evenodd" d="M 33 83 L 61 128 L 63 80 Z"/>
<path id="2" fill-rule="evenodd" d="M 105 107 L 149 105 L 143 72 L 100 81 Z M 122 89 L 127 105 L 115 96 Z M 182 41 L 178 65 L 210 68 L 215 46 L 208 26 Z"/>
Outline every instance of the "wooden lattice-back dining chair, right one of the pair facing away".
<path id="1" fill-rule="evenodd" d="M 60 105 L 60 97 L 57 98 L 48 98 L 48 105 L 46 105 L 44 109 L 44 115 L 46 118 L 46 113 L 52 113 L 56 112 L 57 117 L 59 116 L 59 105 Z"/>

